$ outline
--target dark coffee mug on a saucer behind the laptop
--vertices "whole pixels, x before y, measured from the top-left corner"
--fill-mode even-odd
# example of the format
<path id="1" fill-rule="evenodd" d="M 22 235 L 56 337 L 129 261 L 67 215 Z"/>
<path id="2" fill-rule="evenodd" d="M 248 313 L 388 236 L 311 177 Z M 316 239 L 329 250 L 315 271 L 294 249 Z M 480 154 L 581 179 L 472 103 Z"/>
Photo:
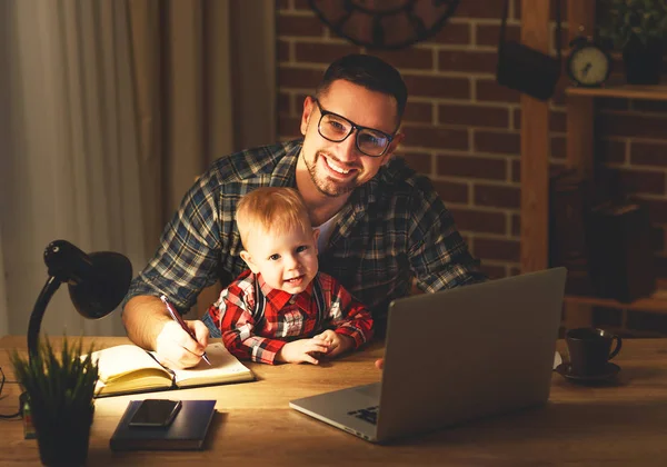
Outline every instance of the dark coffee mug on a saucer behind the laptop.
<path id="1" fill-rule="evenodd" d="M 611 344 L 616 346 L 611 350 Z M 569 329 L 565 341 L 570 357 L 571 374 L 578 376 L 599 375 L 607 362 L 620 351 L 620 337 L 597 328 Z"/>

